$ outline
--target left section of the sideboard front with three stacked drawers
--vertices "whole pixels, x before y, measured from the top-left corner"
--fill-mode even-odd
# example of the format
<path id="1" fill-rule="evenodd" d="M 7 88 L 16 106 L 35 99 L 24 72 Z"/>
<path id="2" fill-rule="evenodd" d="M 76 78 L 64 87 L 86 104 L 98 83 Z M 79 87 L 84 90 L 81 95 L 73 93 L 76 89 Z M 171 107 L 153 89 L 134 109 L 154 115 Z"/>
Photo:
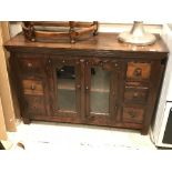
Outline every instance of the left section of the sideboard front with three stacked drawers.
<path id="1" fill-rule="evenodd" d="M 41 60 L 40 60 L 41 58 Z M 36 53 L 14 53 L 10 58 L 14 71 L 23 121 L 50 114 L 47 57 Z"/>

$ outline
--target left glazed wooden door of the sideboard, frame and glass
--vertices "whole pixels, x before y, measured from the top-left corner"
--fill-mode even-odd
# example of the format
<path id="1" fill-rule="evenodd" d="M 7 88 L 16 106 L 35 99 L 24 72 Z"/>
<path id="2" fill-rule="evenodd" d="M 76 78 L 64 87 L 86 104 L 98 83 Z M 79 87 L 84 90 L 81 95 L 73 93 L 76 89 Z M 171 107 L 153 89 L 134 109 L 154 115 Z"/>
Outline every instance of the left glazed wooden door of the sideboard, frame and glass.
<path id="1" fill-rule="evenodd" d="M 57 57 L 55 57 L 57 58 Z M 51 100 L 52 115 L 61 122 L 79 122 L 81 111 L 81 67 L 78 59 L 53 59 Z"/>

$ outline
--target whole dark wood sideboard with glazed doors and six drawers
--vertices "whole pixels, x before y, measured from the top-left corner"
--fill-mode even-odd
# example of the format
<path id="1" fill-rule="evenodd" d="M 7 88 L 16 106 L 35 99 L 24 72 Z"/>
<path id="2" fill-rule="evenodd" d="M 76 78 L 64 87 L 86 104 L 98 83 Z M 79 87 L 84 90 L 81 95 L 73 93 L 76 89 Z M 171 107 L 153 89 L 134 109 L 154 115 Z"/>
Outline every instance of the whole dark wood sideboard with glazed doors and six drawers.
<path id="1" fill-rule="evenodd" d="M 8 41 L 21 117 L 107 125 L 148 134 L 168 60 L 160 36 L 152 45 L 118 41 L 117 33 L 68 42 Z"/>

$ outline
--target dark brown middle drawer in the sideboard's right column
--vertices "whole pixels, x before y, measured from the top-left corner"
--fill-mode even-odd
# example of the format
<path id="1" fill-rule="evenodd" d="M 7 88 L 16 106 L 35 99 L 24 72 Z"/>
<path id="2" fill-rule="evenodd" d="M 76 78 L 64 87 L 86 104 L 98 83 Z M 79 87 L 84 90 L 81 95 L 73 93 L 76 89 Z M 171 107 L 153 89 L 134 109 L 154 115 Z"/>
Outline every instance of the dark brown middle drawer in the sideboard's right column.
<path id="1" fill-rule="evenodd" d="M 145 103 L 148 98 L 148 88 L 125 87 L 124 101 Z"/>

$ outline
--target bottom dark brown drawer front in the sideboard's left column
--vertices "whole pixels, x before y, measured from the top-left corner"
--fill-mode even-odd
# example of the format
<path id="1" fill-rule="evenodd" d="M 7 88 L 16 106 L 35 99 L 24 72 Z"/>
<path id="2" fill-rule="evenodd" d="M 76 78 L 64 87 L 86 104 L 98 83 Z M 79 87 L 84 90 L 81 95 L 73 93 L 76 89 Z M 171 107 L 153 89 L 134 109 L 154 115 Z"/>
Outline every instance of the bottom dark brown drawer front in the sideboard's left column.
<path id="1" fill-rule="evenodd" d="M 45 114 L 45 104 L 43 97 L 24 95 L 24 111 L 30 117 Z"/>

